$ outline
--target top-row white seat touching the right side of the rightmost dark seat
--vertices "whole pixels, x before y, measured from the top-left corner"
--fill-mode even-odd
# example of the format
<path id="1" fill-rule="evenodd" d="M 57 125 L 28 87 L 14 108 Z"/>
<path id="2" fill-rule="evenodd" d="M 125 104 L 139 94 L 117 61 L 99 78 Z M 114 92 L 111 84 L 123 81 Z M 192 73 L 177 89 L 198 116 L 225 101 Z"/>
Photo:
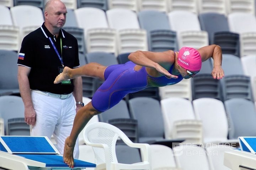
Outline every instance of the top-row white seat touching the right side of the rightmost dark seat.
<path id="1" fill-rule="evenodd" d="M 123 8 L 128 10 L 138 11 L 137 0 L 108 0 L 108 9 Z"/>

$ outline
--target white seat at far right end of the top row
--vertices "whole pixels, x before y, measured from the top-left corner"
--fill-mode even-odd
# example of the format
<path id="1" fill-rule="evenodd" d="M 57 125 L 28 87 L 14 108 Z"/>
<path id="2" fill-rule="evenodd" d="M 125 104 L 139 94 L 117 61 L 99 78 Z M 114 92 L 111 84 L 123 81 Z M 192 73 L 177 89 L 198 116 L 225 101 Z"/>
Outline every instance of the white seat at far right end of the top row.
<path id="1" fill-rule="evenodd" d="M 226 8 L 228 13 L 242 12 L 255 15 L 254 0 L 226 0 Z"/>

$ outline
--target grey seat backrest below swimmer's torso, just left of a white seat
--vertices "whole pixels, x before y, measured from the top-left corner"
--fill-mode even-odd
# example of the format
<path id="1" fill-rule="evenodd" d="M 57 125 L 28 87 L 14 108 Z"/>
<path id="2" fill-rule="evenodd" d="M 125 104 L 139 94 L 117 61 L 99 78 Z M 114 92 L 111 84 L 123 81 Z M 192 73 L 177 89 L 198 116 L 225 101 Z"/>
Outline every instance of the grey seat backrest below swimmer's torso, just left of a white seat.
<path id="1" fill-rule="evenodd" d="M 164 120 L 158 100 L 150 97 L 132 98 L 129 100 L 129 110 L 131 117 L 138 120 L 140 143 L 164 139 Z"/>

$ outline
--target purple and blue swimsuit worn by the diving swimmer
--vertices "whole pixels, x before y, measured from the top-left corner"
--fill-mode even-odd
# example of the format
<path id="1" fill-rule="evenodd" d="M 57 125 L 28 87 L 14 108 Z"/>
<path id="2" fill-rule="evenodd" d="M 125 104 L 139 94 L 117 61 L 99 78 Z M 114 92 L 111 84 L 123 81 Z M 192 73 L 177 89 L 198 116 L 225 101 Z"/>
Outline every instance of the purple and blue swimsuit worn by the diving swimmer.
<path id="1" fill-rule="evenodd" d="M 143 90 L 147 87 L 162 87 L 180 82 L 183 77 L 167 79 L 165 76 L 151 77 L 146 68 L 134 70 L 133 62 L 116 64 L 106 68 L 105 82 L 98 88 L 92 97 L 92 106 L 100 112 L 104 112 L 119 103 L 129 93 Z M 169 73 L 171 73 L 171 66 Z"/>

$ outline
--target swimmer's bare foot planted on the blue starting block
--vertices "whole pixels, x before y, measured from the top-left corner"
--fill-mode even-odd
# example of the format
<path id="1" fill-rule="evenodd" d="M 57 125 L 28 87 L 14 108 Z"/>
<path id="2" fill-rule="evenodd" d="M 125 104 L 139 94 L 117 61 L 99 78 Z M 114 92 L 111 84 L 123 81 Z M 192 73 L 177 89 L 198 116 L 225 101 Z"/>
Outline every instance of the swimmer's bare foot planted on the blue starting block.
<path id="1" fill-rule="evenodd" d="M 73 152 L 74 152 L 74 146 L 69 146 L 68 145 L 68 139 L 69 137 L 66 138 L 65 144 L 64 144 L 64 152 L 63 152 L 63 161 L 68 164 L 69 168 L 74 168 L 74 157 L 73 157 Z"/>

